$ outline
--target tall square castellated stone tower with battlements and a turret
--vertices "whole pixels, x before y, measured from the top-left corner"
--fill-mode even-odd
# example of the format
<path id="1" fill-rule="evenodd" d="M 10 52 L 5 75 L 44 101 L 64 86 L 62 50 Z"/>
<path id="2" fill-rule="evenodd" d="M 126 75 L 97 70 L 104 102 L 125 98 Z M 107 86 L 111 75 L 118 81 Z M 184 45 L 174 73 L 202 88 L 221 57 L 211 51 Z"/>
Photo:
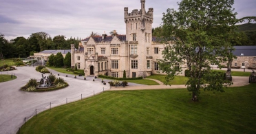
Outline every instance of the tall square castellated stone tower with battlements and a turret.
<path id="1" fill-rule="evenodd" d="M 140 10 L 135 9 L 128 13 L 128 8 L 125 8 L 126 39 L 129 43 L 130 60 L 129 76 L 132 77 L 149 76 L 152 71 L 153 8 L 149 8 L 146 12 L 145 0 L 140 0 L 140 3 Z"/>

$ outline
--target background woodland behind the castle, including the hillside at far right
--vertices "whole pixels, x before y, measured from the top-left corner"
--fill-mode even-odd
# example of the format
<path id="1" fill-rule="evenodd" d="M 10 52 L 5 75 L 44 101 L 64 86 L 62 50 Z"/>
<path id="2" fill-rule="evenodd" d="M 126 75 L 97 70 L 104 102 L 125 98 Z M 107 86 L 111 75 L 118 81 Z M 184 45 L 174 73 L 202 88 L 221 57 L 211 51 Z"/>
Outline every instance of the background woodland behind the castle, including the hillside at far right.
<path id="1" fill-rule="evenodd" d="M 152 28 L 153 36 L 163 36 L 163 34 L 161 26 Z M 95 32 L 92 35 L 98 35 L 98 33 Z M 72 38 L 72 36 L 66 38 L 64 35 L 52 38 L 45 32 L 33 33 L 28 38 L 19 36 L 8 41 L 0 33 L 0 57 L 24 58 L 46 49 L 70 49 L 70 44 L 74 44 L 77 48 L 80 41 L 81 38 Z M 232 43 L 233 45 L 256 45 L 256 23 L 237 25 L 237 38 L 234 38 Z"/>

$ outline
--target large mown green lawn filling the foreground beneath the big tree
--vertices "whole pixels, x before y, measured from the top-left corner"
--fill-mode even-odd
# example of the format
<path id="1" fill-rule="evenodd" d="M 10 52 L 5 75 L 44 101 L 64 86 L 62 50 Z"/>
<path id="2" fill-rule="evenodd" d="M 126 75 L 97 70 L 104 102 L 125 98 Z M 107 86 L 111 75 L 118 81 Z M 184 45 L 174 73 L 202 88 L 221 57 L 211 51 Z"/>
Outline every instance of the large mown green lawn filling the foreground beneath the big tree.
<path id="1" fill-rule="evenodd" d="M 186 89 L 105 91 L 44 111 L 21 133 L 256 133 L 256 84 L 224 93 Z"/>

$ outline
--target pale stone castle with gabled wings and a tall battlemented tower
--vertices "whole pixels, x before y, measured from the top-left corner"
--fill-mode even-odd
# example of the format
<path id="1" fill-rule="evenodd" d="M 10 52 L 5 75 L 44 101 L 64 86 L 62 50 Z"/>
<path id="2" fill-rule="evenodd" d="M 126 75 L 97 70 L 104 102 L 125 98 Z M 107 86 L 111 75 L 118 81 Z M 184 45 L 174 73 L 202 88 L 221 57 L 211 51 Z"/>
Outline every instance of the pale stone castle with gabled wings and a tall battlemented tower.
<path id="1" fill-rule="evenodd" d="M 126 34 L 90 36 L 81 41 L 78 49 L 71 45 L 72 67 L 84 69 L 85 76 L 107 75 L 129 78 L 157 74 L 157 59 L 162 58 L 164 45 L 152 37 L 153 8 L 145 10 L 145 0 L 140 0 L 141 9 L 125 11 Z"/>

